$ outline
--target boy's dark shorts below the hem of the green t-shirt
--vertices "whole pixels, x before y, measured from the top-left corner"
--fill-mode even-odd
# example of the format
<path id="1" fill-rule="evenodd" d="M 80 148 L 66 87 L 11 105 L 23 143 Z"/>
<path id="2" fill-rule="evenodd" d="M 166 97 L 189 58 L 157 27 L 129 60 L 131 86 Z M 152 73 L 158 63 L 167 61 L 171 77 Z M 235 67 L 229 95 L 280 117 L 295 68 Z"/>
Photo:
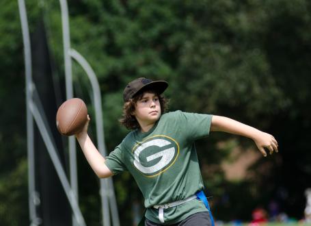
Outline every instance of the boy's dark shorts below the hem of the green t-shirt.
<path id="1" fill-rule="evenodd" d="M 152 221 L 149 221 L 147 218 L 145 220 L 145 226 L 158 226 L 159 224 L 153 223 Z M 176 223 L 171 226 L 211 226 L 211 218 L 209 216 L 209 212 L 198 212 L 196 214 L 192 214 L 185 218 L 184 220 L 180 221 L 179 223 Z"/>

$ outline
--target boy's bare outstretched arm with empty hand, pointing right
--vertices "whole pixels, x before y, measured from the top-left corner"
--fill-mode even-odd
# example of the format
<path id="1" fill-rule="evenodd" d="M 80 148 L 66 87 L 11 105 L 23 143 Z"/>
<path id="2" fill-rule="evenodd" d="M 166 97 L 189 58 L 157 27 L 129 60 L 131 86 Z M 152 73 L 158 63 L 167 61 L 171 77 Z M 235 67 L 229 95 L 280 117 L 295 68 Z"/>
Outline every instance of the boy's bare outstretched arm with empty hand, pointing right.
<path id="1" fill-rule="evenodd" d="M 224 131 L 230 134 L 251 138 L 265 157 L 267 156 L 265 148 L 269 149 L 270 154 L 272 154 L 273 151 L 278 152 L 278 142 L 271 134 L 267 134 L 231 118 L 214 115 L 211 123 L 211 131 Z"/>

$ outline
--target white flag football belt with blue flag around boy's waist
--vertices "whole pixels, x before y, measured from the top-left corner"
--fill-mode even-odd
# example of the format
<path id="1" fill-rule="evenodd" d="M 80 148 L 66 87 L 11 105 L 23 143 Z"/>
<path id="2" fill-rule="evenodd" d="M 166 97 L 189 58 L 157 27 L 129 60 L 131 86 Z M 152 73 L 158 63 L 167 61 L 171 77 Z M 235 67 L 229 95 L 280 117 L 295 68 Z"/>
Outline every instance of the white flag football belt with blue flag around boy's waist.
<path id="1" fill-rule="evenodd" d="M 199 199 L 199 200 L 203 201 L 203 203 L 206 206 L 208 213 L 210 215 L 212 226 L 214 226 L 214 219 L 213 219 L 213 216 L 211 214 L 211 210 L 209 208 L 208 201 L 207 201 L 203 191 L 197 192 L 196 194 L 193 194 L 191 197 L 184 199 L 184 200 L 178 200 L 178 201 L 174 201 L 172 203 L 166 203 L 163 205 L 154 205 L 153 208 L 159 209 L 159 220 L 161 223 L 164 223 L 164 209 L 172 208 L 172 207 L 175 207 L 177 205 L 187 203 L 187 201 L 191 201 L 193 199 Z"/>

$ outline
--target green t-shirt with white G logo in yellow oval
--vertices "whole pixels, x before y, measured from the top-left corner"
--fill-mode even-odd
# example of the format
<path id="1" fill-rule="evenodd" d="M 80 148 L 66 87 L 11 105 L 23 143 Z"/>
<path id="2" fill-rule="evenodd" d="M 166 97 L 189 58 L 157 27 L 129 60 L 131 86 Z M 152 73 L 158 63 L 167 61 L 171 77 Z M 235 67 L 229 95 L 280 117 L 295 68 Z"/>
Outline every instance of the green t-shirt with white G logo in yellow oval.
<path id="1" fill-rule="evenodd" d="M 210 114 L 169 112 L 146 133 L 129 133 L 106 159 L 113 174 L 129 171 L 144 195 L 146 218 L 160 223 L 153 205 L 187 199 L 204 188 L 194 141 L 208 136 Z M 165 224 L 174 224 L 205 205 L 193 199 L 164 210 Z"/>

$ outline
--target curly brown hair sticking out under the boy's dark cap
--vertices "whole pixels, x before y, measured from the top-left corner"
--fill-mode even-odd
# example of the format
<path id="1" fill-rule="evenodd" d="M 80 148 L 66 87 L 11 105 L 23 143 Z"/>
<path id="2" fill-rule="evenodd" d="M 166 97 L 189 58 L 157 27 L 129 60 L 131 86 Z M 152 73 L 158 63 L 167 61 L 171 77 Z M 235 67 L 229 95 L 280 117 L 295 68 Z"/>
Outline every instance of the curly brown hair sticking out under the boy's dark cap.
<path id="1" fill-rule="evenodd" d="M 159 94 L 159 91 L 157 90 L 144 90 L 144 92 L 140 92 L 139 94 L 135 95 L 132 99 L 129 99 L 129 101 L 126 101 L 123 105 L 123 114 L 122 118 L 119 119 L 119 122 L 124 125 L 127 129 L 138 129 L 140 127 L 138 121 L 136 120 L 136 117 L 133 115 L 133 112 L 135 112 L 135 105 L 137 101 L 142 99 L 144 96 L 144 93 L 152 93 L 154 95 L 157 95 L 159 97 L 159 102 L 161 106 L 161 114 L 163 114 L 167 110 L 167 105 L 169 100 L 163 97 L 163 95 Z"/>

